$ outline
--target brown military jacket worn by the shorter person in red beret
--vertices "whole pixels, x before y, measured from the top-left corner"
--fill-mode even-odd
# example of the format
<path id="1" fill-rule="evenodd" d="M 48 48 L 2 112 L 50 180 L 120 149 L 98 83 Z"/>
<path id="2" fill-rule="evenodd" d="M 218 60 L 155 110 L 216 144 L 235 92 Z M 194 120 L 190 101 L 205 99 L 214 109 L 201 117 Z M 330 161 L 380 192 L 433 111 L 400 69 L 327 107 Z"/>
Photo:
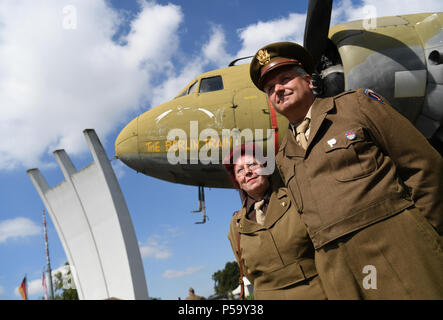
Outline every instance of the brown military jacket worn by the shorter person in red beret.
<path id="1" fill-rule="evenodd" d="M 261 291 L 282 289 L 317 274 L 314 247 L 286 188 L 271 194 L 263 226 L 246 218 L 244 202 L 231 220 L 228 238 L 245 276 L 254 286 L 256 299 L 262 299 Z M 305 299 L 324 298 L 323 293 L 321 295 Z"/>

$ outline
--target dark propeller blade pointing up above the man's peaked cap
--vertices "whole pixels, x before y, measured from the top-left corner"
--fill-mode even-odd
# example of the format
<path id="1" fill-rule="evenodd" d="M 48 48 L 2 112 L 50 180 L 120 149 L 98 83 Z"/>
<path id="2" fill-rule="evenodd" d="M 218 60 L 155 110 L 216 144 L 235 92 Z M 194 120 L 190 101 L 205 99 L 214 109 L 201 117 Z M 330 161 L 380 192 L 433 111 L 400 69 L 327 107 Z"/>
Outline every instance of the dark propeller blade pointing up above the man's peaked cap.
<path id="1" fill-rule="evenodd" d="M 310 0 L 306 16 L 303 46 L 311 53 L 317 64 L 326 49 L 332 0 Z"/>

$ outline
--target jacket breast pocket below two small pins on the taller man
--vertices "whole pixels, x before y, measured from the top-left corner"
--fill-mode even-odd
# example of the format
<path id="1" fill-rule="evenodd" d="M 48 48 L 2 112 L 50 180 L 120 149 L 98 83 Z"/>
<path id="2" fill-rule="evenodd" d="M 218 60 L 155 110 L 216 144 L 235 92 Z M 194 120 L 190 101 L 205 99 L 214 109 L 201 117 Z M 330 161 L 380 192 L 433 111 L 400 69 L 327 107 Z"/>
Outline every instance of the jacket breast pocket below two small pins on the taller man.
<path id="1" fill-rule="evenodd" d="M 377 169 L 376 147 L 361 127 L 327 139 L 324 151 L 338 181 L 361 179 Z"/>

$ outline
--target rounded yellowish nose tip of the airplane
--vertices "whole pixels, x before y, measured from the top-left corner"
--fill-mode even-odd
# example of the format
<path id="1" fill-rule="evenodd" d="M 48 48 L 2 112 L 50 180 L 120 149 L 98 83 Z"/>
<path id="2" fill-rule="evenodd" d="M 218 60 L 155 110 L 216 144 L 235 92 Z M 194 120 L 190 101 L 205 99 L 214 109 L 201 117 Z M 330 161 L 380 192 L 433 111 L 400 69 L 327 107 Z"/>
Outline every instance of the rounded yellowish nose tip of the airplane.
<path id="1" fill-rule="evenodd" d="M 130 167 L 138 160 L 138 117 L 119 133 L 115 140 L 115 156 Z"/>

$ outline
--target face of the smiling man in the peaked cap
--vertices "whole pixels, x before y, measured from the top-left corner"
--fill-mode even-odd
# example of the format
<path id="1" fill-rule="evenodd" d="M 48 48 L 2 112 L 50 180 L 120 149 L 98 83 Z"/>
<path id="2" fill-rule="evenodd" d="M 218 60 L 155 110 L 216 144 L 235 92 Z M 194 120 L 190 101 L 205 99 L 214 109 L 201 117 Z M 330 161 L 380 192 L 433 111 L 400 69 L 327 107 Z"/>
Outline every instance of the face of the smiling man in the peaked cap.
<path id="1" fill-rule="evenodd" d="M 303 121 L 314 95 L 312 79 L 300 76 L 292 66 L 280 67 L 266 75 L 264 91 L 277 112 L 292 123 Z"/>

